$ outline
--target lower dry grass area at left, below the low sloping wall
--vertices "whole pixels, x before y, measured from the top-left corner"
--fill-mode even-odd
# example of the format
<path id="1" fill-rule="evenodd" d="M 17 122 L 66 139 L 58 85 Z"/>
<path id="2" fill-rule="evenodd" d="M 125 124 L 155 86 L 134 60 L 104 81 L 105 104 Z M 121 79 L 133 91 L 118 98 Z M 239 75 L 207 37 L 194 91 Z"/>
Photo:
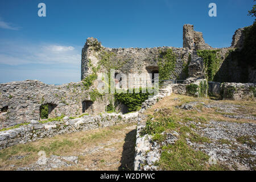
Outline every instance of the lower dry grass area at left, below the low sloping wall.
<path id="1" fill-rule="evenodd" d="M 133 162 L 134 157 L 135 126 L 135 123 L 132 123 L 80 131 L 9 147 L 0 151 L 0 170 L 14 170 L 35 163 L 39 158 L 40 150 L 46 151 L 47 158 L 50 155 L 79 156 L 79 163 L 76 166 L 55 168 L 56 170 L 131 169 L 131 161 Z M 131 146 L 128 151 L 124 151 L 124 148 L 127 150 L 127 144 Z M 93 151 L 93 148 L 97 147 L 100 147 L 100 150 Z M 25 157 L 9 160 L 14 156 Z"/>

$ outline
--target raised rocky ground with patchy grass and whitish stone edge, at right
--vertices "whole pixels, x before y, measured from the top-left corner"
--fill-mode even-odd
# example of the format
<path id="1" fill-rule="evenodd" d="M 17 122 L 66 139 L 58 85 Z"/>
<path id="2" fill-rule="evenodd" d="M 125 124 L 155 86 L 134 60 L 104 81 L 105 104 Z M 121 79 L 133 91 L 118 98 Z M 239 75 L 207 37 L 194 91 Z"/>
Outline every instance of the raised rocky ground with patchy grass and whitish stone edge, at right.
<path id="1" fill-rule="evenodd" d="M 140 124 L 141 134 L 137 133 L 137 152 L 141 153 L 136 157 L 138 169 L 172 170 L 177 169 L 171 166 L 171 163 L 176 162 L 187 163 L 180 166 L 181 169 L 188 170 L 256 169 L 254 101 L 213 101 L 176 95 L 159 101 L 148 109 L 146 114 L 150 117 L 146 117 L 144 123 L 142 121 Z M 161 125 L 159 122 L 168 117 L 173 119 L 171 122 L 175 124 L 173 127 L 170 127 L 169 123 L 161 126 L 166 127 L 165 131 L 159 127 L 159 133 L 156 131 L 153 134 L 142 135 L 143 127 L 148 128 L 154 121 L 158 123 L 156 126 L 159 126 Z M 145 123 L 148 119 L 151 124 Z M 184 142 L 189 149 L 182 151 L 184 154 L 179 156 L 181 142 Z M 191 152 L 188 150 L 195 151 L 193 153 L 195 156 L 201 155 L 205 159 L 196 159 L 197 162 L 201 162 L 197 167 L 191 165 L 196 160 L 193 161 L 186 156 Z"/>

